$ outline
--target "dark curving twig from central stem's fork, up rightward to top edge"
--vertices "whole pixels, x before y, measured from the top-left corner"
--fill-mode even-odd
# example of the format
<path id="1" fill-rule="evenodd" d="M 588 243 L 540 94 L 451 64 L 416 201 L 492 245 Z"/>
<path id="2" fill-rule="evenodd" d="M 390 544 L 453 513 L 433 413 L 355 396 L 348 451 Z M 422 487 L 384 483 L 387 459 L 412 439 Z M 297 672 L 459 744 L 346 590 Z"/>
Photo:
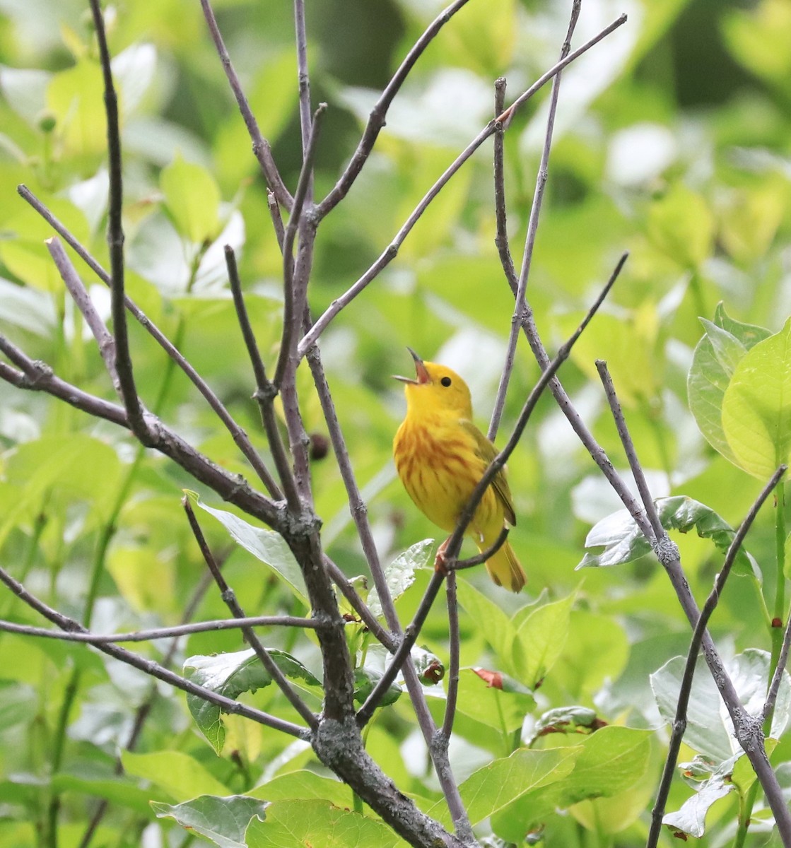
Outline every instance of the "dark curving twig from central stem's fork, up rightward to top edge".
<path id="1" fill-rule="evenodd" d="M 371 114 L 368 115 L 365 129 L 362 131 L 362 138 L 357 145 L 357 149 L 349 160 L 349 164 L 346 165 L 344 172 L 340 175 L 339 180 L 335 183 L 332 191 L 328 193 L 327 197 L 324 198 L 320 204 L 317 204 L 316 212 L 319 218 L 323 218 L 324 215 L 327 215 L 331 209 L 334 209 L 340 200 L 345 198 L 352 184 L 362 170 L 362 166 L 365 165 L 368 156 L 373 150 L 373 145 L 376 143 L 376 139 L 379 137 L 379 132 L 384 126 L 387 110 L 390 109 L 390 103 L 393 102 L 393 98 L 396 97 L 396 94 L 401 89 L 401 85 L 407 79 L 407 75 L 412 70 L 420 56 L 424 53 L 426 47 L 429 46 L 432 39 L 467 2 L 468 0 L 456 0 L 455 3 L 451 3 L 450 6 L 443 9 L 440 14 L 438 14 L 436 18 L 426 27 L 423 35 L 418 38 L 418 41 L 414 43 L 409 53 L 407 53 L 404 57 L 404 60 L 399 65 L 398 70 L 396 70 L 396 73 L 393 75 L 393 78 L 384 88 L 384 91 L 379 96 L 379 100 L 377 100 L 374 104 L 373 109 L 371 109 Z M 500 111 L 502 111 L 502 107 Z"/>

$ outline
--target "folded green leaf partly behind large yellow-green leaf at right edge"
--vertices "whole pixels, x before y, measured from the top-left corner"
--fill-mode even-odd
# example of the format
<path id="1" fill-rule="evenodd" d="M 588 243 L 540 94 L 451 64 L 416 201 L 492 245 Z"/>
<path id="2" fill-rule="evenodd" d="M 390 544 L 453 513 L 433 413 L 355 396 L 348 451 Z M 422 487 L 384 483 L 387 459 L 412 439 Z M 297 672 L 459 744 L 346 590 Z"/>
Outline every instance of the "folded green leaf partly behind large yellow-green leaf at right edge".
<path id="1" fill-rule="evenodd" d="M 771 333 L 760 326 L 734 321 L 721 303 L 717 304 L 713 322 L 701 320 L 706 334 L 695 348 L 687 377 L 689 409 L 709 444 L 735 465 L 722 429 L 722 401 L 738 363 Z"/>

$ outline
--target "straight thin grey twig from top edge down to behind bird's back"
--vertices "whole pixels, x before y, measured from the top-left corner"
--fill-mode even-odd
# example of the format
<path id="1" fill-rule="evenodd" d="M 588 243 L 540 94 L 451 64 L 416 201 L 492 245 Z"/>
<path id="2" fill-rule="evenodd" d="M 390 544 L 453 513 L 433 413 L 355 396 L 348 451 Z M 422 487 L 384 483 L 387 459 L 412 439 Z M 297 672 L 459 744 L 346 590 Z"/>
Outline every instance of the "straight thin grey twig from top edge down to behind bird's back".
<path id="1" fill-rule="evenodd" d="M 566 32 L 563 47 L 560 50 L 560 59 L 565 59 L 571 50 L 571 37 L 574 35 L 577 19 L 580 17 L 581 0 L 575 0 L 571 6 L 571 18 L 569 20 L 569 29 Z M 513 372 L 513 362 L 516 358 L 516 343 L 519 340 L 519 331 L 522 327 L 522 322 L 519 316 L 525 305 L 525 292 L 527 291 L 527 282 L 530 277 L 530 266 L 533 259 L 533 248 L 536 245 L 536 233 L 538 232 L 538 220 L 541 215 L 541 203 L 544 198 L 544 189 L 547 187 L 547 176 L 549 175 L 549 153 L 552 149 L 552 137 L 555 126 L 555 114 L 558 111 L 558 98 L 560 95 L 560 81 L 562 73 L 558 71 L 552 82 L 552 94 L 549 98 L 549 112 L 547 114 L 547 131 L 544 134 L 544 147 L 541 150 L 541 161 L 538 165 L 538 174 L 536 175 L 536 190 L 533 194 L 533 203 L 530 206 L 530 218 L 527 224 L 527 234 L 525 236 L 525 253 L 522 256 L 522 268 L 519 271 L 519 285 L 516 292 L 516 303 L 513 306 L 513 318 L 511 319 L 511 329 L 508 333 L 508 347 L 506 349 L 505 362 L 502 366 L 500 374 L 500 383 L 497 386 L 497 394 L 494 407 L 491 411 L 491 422 L 489 424 L 489 438 L 493 442 L 497 435 L 497 430 L 500 428 L 502 419 L 502 410 L 505 409 L 505 399 L 508 393 L 508 383 L 511 380 Z"/>

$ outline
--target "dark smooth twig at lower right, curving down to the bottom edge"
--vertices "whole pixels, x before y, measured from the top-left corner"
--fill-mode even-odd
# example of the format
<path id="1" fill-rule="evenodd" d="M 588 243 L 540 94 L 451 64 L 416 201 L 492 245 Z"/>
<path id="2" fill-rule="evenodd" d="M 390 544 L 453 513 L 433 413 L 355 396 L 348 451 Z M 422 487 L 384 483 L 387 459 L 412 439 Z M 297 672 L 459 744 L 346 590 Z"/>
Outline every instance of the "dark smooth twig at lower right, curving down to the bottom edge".
<path id="1" fill-rule="evenodd" d="M 698 623 L 693 629 L 692 639 L 690 640 L 689 650 L 687 652 L 687 663 L 684 667 L 682 683 L 678 693 L 678 700 L 676 702 L 676 717 L 673 719 L 673 731 L 670 735 L 670 745 L 667 758 L 665 760 L 665 767 L 662 771 L 662 779 L 659 783 L 659 789 L 657 790 L 654 809 L 651 811 L 651 828 L 648 832 L 646 848 L 655 848 L 659 841 L 659 834 L 662 829 L 662 818 L 665 816 L 665 804 L 667 802 L 668 794 L 670 793 L 670 783 L 673 779 L 673 773 L 676 770 L 678 751 L 682 745 L 684 731 L 687 729 L 687 709 L 689 707 L 690 696 L 692 695 L 695 665 L 698 661 L 698 652 L 700 651 L 700 645 L 703 641 L 706 627 L 712 613 L 715 611 L 716 605 L 719 603 L 722 590 L 725 588 L 725 583 L 731 573 L 733 563 L 736 561 L 736 556 L 738 555 L 739 550 L 741 550 L 744 538 L 749 532 L 749 528 L 752 527 L 752 524 L 755 521 L 755 516 L 758 515 L 758 511 L 764 504 L 764 501 L 766 501 L 766 498 L 769 497 L 772 489 L 775 488 L 777 482 L 781 477 L 783 477 L 786 470 L 787 466 L 780 466 L 777 471 L 775 471 L 769 483 L 766 484 L 761 493 L 755 499 L 754 504 L 750 507 L 747 517 L 742 522 L 741 527 L 739 527 L 738 531 L 734 534 L 732 542 L 728 546 L 721 571 L 715 579 L 714 587 L 711 589 L 709 597 L 706 599 L 703 609 L 700 611 Z"/>

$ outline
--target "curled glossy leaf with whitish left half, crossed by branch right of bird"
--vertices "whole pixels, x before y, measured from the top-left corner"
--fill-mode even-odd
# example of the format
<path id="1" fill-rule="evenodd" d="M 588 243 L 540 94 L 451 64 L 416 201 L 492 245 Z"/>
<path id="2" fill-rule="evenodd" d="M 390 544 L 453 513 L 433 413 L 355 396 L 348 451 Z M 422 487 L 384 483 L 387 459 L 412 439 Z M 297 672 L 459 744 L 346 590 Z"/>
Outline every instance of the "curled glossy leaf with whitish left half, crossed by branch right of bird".
<path id="1" fill-rule="evenodd" d="M 678 494 L 654 501 L 665 530 L 689 533 L 696 530 L 701 538 L 710 538 L 724 554 L 736 531 L 710 507 Z M 648 539 L 627 510 L 619 510 L 597 522 L 585 540 L 586 548 L 603 547 L 600 554 L 586 553 L 577 568 L 620 566 L 651 553 Z M 760 577 L 755 560 L 743 548 L 734 561 L 734 572 Z"/>

